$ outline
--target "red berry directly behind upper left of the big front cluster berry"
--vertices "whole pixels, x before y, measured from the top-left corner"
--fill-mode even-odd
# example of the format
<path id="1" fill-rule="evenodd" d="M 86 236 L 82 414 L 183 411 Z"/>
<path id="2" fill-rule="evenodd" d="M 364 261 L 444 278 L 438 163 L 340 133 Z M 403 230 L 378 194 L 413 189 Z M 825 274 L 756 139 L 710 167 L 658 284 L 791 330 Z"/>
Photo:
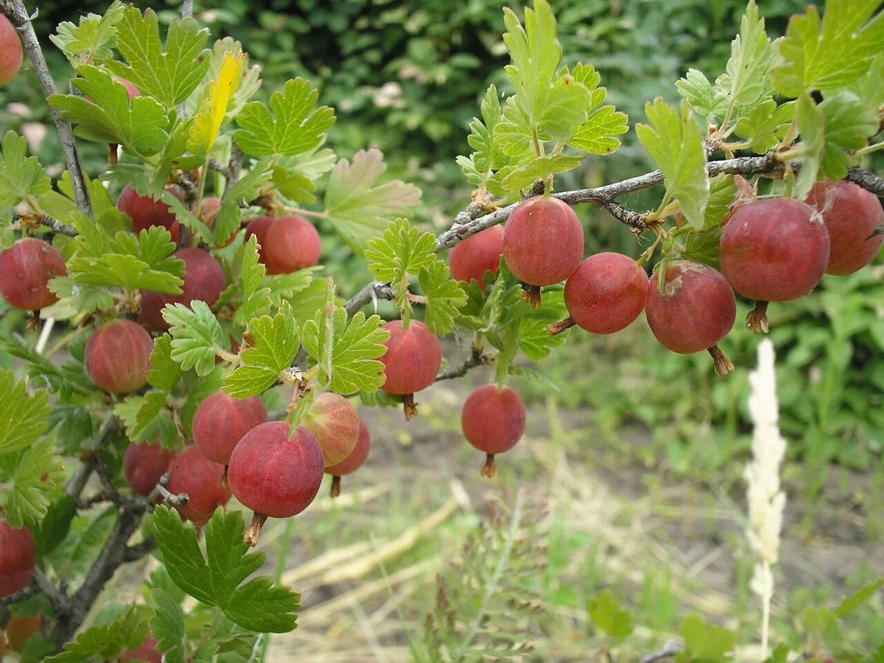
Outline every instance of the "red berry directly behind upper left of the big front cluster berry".
<path id="1" fill-rule="evenodd" d="M 194 414 L 194 443 L 210 461 L 226 465 L 243 435 L 267 421 L 267 410 L 257 396 L 245 400 L 215 392 Z"/>

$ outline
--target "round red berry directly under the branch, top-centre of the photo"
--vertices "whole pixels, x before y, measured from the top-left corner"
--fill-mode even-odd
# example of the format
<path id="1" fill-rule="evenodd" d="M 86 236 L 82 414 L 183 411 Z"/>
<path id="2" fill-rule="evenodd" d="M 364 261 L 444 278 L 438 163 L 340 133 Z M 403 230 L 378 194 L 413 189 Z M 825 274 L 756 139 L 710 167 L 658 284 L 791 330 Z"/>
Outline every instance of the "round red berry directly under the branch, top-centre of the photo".
<path id="1" fill-rule="evenodd" d="M 534 196 L 507 219 L 503 255 L 516 278 L 530 286 L 552 286 L 571 276 L 583 258 L 583 228 L 567 203 Z"/>

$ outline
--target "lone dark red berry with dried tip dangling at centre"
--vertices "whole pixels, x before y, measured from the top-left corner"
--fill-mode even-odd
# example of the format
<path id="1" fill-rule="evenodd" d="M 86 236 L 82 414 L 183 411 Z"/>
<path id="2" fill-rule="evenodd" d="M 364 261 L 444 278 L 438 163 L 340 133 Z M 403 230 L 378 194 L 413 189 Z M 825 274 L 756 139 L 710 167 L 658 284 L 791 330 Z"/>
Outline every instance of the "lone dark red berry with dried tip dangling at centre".
<path id="1" fill-rule="evenodd" d="M 494 476 L 494 455 L 512 449 L 525 432 L 525 404 L 507 386 L 480 386 L 463 403 L 461 429 L 469 444 L 487 454 L 483 476 Z"/>

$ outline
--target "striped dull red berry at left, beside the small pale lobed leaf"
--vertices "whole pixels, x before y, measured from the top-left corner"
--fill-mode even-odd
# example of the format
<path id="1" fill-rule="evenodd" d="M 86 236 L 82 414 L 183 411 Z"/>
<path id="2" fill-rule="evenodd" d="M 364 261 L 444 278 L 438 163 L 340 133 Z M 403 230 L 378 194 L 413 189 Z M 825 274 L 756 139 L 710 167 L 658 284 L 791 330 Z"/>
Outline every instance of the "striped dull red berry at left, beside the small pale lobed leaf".
<path id="1" fill-rule="evenodd" d="M 148 382 L 154 343 L 131 320 L 114 320 L 92 332 L 86 344 L 86 372 L 105 392 L 129 393 Z"/>

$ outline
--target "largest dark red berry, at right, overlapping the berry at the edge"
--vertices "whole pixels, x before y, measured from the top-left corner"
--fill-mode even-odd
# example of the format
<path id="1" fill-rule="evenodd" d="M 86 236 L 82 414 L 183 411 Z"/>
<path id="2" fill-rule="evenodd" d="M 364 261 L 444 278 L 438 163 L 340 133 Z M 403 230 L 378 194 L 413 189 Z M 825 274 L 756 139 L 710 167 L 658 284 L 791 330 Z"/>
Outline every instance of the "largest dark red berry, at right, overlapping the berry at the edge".
<path id="1" fill-rule="evenodd" d="M 721 233 L 721 273 L 757 301 L 791 301 L 812 291 L 826 270 L 829 237 L 816 210 L 787 199 L 751 202 Z"/>

